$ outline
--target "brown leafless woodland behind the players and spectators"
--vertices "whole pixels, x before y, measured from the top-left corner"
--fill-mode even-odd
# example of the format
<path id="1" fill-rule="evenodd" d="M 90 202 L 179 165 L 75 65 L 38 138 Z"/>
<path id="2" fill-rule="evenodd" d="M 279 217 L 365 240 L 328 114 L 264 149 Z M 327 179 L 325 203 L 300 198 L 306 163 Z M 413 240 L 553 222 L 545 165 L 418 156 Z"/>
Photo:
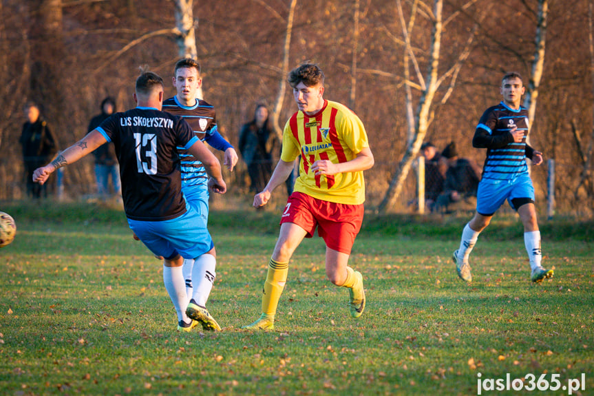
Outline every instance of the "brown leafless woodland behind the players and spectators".
<path id="1" fill-rule="evenodd" d="M 384 211 L 411 210 L 407 158 L 423 140 L 440 148 L 455 140 L 462 156 L 482 164 L 485 150 L 471 147 L 478 118 L 500 101 L 502 74 L 518 71 L 525 85 L 536 82 L 530 143 L 555 159 L 557 211 L 591 216 L 591 9 L 590 0 L 1 0 L 0 200 L 24 199 L 18 140 L 26 101 L 43 105 L 65 148 L 84 136 L 105 96 L 119 111 L 134 107 L 140 65 L 169 83 L 189 54 L 202 64 L 204 99 L 233 145 L 257 102 L 271 106 L 282 128 L 296 111 L 286 70 L 318 63 L 324 97 L 365 123 L 376 159 L 365 172 L 366 207 L 389 202 Z M 175 94 L 172 86 L 166 94 Z M 402 189 L 387 200 L 399 173 Z M 225 176 L 228 194 L 248 195 L 241 158 Z M 544 205 L 547 164 L 532 176 Z M 93 191 L 92 156 L 66 168 L 68 198 Z"/>

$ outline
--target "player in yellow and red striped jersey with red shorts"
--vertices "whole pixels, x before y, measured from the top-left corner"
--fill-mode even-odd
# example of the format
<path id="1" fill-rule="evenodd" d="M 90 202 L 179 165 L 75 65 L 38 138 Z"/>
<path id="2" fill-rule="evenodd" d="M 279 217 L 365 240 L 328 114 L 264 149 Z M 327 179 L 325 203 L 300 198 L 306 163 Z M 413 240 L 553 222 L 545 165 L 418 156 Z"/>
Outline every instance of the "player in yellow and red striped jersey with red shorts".
<path id="1" fill-rule="evenodd" d="M 281 158 L 264 191 L 255 195 L 253 206 L 266 205 L 301 155 L 299 177 L 282 213 L 268 264 L 262 316 L 244 329 L 274 329 L 290 257 L 316 228 L 326 242 L 326 276 L 349 290 L 352 317 L 360 317 L 365 309 L 363 276 L 348 267 L 348 258 L 363 221 L 363 171 L 373 166 L 374 159 L 363 123 L 348 107 L 323 98 L 323 82 L 317 65 L 301 65 L 288 75 L 299 111 L 286 123 Z"/>

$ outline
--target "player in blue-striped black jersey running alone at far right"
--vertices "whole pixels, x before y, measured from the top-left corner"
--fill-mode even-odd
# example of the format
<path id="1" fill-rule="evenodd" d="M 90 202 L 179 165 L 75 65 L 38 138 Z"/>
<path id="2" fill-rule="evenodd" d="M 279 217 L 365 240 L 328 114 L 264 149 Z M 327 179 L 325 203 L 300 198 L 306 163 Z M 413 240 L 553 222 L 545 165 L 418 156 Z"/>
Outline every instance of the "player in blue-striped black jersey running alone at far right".
<path id="1" fill-rule="evenodd" d="M 482 114 L 474 132 L 472 145 L 486 148 L 487 158 L 478 184 L 476 214 L 464 227 L 460 247 L 454 251 L 458 276 L 467 282 L 472 280 L 468 256 L 478 234 L 489 225 L 505 200 L 518 212 L 524 225 L 524 244 L 530 259 L 532 282 L 541 282 L 553 276 L 552 269 L 544 269 L 541 265 L 534 187 L 526 158 L 530 158 L 533 165 L 540 165 L 542 153 L 526 143 L 529 132 L 528 110 L 520 105 L 524 90 L 520 74 L 505 74 L 500 87 L 503 100 Z"/>

